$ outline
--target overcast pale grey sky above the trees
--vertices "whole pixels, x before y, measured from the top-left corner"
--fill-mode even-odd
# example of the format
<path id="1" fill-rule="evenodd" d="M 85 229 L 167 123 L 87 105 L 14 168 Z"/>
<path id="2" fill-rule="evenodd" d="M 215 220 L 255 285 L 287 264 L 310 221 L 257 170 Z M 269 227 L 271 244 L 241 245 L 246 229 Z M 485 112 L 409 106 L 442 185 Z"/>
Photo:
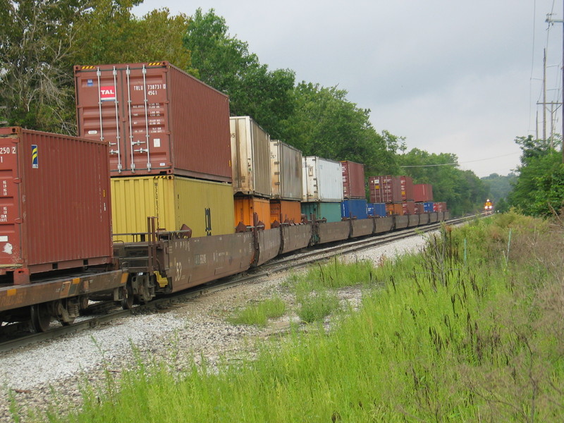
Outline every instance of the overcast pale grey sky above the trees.
<path id="1" fill-rule="evenodd" d="M 454 153 L 483 177 L 516 168 L 515 137 L 536 136 L 537 111 L 542 137 L 544 47 L 547 102 L 561 101 L 563 24 L 548 30 L 545 19 L 562 19 L 562 2 L 145 0 L 134 12 L 214 8 L 271 70 L 338 85 L 371 109 L 376 130 L 405 137 L 408 149 Z M 561 109 L 553 115 L 560 133 Z"/>

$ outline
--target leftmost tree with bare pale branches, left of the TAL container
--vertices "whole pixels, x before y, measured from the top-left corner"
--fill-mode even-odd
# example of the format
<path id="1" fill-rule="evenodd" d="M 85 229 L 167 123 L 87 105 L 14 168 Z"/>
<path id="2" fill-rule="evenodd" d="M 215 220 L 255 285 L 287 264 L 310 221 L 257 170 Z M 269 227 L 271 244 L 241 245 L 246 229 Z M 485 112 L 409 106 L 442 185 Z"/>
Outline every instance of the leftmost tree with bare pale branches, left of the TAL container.
<path id="1" fill-rule="evenodd" d="M 0 0 L 0 106 L 10 125 L 72 133 L 75 21 L 85 0 Z"/>

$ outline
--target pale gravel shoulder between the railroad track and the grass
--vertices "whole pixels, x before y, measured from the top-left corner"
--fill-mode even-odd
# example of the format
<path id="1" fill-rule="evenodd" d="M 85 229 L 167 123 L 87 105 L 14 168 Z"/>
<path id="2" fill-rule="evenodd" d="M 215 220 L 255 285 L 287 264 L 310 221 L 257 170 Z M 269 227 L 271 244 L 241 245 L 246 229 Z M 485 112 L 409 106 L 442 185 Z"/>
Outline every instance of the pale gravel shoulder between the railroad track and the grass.
<path id="1" fill-rule="evenodd" d="M 369 259 L 378 264 L 406 252 L 415 252 L 427 235 L 343 255 L 343 260 Z M 142 357 L 176 355 L 179 370 L 192 357 L 216 363 L 220 357 L 248 353 L 249 345 L 260 337 L 286 331 L 291 314 L 266 328 L 235 326 L 225 316 L 250 301 L 278 295 L 287 302 L 293 298 L 283 285 L 288 274 L 274 274 L 258 283 L 245 283 L 217 293 L 203 295 L 182 307 L 154 314 L 137 315 L 113 321 L 73 336 L 32 345 L 0 356 L 0 423 L 12 422 L 10 396 L 23 408 L 47 410 L 57 398 L 63 407 L 80 404 L 79 386 L 86 379 L 97 383 L 104 372 L 118 374 L 135 361 L 133 347 Z M 341 300 L 360 302 L 360 289 L 347 288 Z M 290 304 L 291 305 L 291 304 Z M 20 420 L 25 422 L 26 419 Z"/>

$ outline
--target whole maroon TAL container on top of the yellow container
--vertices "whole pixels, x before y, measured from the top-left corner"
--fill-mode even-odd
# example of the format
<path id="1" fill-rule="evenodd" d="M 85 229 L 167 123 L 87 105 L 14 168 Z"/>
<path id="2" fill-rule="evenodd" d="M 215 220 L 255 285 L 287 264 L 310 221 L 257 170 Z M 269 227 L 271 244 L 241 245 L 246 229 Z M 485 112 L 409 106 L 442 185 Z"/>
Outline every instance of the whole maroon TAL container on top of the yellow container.
<path id="1" fill-rule="evenodd" d="M 166 61 L 75 66 L 78 135 L 110 145 L 111 176 L 231 182 L 229 99 Z"/>

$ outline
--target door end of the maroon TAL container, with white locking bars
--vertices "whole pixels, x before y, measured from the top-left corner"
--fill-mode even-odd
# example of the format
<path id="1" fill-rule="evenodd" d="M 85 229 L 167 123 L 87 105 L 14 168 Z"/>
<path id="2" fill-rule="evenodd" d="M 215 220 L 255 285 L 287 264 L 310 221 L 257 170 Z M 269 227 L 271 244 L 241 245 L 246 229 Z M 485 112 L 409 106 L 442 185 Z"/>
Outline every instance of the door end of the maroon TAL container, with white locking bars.
<path id="1" fill-rule="evenodd" d="M 160 63 L 77 71 L 79 135 L 109 143 L 113 175 L 171 168 L 167 75 Z"/>

